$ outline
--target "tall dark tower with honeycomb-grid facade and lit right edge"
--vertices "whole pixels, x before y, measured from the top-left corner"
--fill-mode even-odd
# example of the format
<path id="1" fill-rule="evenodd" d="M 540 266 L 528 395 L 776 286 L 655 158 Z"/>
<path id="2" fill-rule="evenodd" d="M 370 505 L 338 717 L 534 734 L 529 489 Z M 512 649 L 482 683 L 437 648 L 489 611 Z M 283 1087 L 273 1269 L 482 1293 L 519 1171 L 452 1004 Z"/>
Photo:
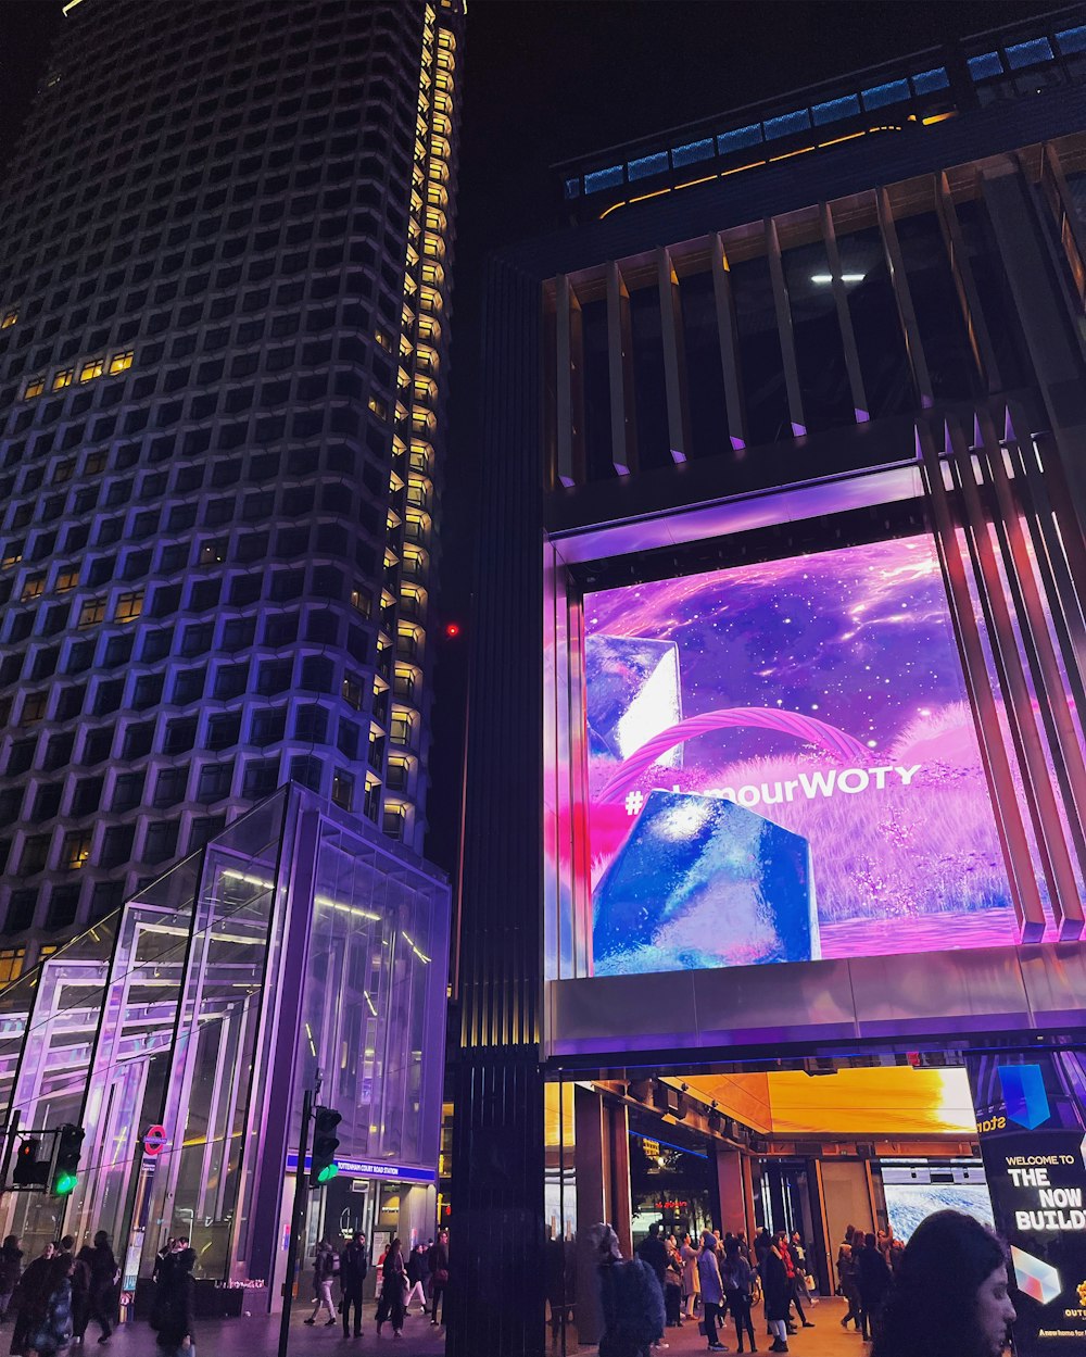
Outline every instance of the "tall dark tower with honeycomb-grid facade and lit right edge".
<path id="1" fill-rule="evenodd" d="M 460 0 L 72 0 L 0 208 L 0 930 L 293 779 L 419 851 Z"/>

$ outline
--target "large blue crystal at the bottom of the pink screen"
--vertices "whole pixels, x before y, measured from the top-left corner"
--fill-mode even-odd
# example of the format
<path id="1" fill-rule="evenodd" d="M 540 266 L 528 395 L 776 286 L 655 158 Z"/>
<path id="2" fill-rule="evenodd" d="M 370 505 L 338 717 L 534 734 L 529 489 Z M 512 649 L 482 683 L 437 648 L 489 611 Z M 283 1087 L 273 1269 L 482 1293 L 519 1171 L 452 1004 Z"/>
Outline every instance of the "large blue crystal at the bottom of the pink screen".
<path id="1" fill-rule="evenodd" d="M 731 801 L 653 791 L 592 892 L 597 976 L 820 955 L 811 848 Z"/>

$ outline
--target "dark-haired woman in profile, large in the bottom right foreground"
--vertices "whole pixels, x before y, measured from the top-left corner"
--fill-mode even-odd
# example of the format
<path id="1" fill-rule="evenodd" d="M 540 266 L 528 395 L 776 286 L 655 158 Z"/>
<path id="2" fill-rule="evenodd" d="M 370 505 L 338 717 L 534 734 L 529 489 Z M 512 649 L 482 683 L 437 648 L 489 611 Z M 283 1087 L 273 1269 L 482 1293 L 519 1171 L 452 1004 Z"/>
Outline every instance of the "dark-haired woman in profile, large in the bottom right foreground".
<path id="1" fill-rule="evenodd" d="M 1003 1244 L 972 1216 L 937 1210 L 906 1244 L 872 1357 L 999 1357 L 1014 1319 Z"/>

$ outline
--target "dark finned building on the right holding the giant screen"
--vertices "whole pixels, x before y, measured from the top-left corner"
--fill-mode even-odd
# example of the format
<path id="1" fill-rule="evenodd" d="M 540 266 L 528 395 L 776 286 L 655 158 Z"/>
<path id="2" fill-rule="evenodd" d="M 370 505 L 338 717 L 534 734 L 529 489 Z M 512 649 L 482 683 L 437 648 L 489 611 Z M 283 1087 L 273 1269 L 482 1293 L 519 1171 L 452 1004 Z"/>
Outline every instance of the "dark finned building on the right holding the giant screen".
<path id="1" fill-rule="evenodd" d="M 1083 52 L 565 166 L 494 261 L 450 1353 L 541 1353 L 563 1274 L 591 1341 L 599 1220 L 824 1259 L 1081 1140 Z"/>

